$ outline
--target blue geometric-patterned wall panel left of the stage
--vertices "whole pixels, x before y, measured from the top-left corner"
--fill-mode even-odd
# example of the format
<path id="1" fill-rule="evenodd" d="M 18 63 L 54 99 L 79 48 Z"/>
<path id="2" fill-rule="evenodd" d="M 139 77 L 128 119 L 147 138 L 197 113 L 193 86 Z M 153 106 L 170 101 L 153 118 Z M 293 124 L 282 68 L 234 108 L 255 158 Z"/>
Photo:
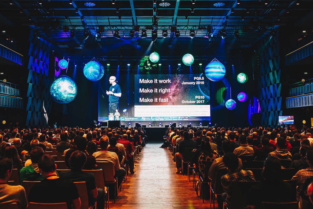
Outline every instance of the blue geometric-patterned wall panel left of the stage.
<path id="1" fill-rule="evenodd" d="M 51 46 L 51 43 L 44 39 L 38 39 L 31 34 L 26 95 L 26 126 L 29 128 L 46 126 L 48 123 L 52 106 L 49 93 L 49 86 L 52 81 L 48 78 Z"/>

